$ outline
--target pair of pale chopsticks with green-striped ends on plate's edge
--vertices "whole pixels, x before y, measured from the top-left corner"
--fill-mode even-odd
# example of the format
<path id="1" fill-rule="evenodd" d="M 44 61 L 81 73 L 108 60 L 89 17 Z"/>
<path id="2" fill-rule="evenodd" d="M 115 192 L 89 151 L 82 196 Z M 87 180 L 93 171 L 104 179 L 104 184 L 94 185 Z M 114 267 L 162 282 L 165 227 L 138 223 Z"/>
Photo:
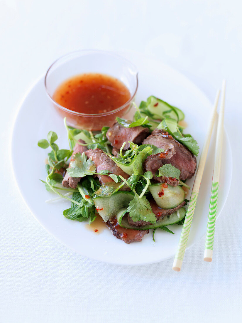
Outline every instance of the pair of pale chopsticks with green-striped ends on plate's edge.
<path id="1" fill-rule="evenodd" d="M 218 125 L 217 125 L 217 137 L 216 137 L 216 149 L 215 149 L 215 163 L 214 163 L 214 172 L 210 196 L 210 204 L 208 211 L 208 222 L 207 222 L 207 234 L 206 234 L 206 243 L 204 250 L 204 260 L 212 261 L 213 254 L 213 243 L 214 243 L 214 231 L 215 231 L 215 221 L 217 213 L 217 197 L 218 197 L 218 183 L 219 183 L 219 172 L 221 165 L 221 154 L 222 154 L 222 142 L 223 142 L 223 124 L 224 124 L 224 103 L 225 103 L 225 80 L 222 85 L 222 100 L 221 107 L 218 116 Z M 217 105 L 220 95 L 220 90 L 217 91 L 212 116 L 210 119 L 207 136 L 204 142 L 203 150 L 201 152 L 200 161 L 197 167 L 197 174 L 192 188 L 192 193 L 190 201 L 187 207 L 187 214 L 182 228 L 182 233 L 180 236 L 178 248 L 176 251 L 175 259 L 173 262 L 172 269 L 175 271 L 180 271 L 182 266 L 183 257 L 185 254 L 187 240 L 192 224 L 193 214 L 195 211 L 197 196 L 203 176 L 204 166 L 207 159 L 207 152 L 209 148 L 209 143 L 212 136 L 213 126 L 217 116 Z"/>

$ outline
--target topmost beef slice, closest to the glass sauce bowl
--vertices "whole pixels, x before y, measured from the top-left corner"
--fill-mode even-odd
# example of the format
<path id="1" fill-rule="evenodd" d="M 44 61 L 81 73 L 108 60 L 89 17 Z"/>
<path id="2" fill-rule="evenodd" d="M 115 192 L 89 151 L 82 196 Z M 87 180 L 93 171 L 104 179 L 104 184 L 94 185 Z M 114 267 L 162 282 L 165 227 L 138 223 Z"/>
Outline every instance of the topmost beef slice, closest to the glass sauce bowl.
<path id="1" fill-rule="evenodd" d="M 140 144 L 149 133 L 148 128 L 144 127 L 133 127 L 125 128 L 116 122 L 112 127 L 107 130 L 106 137 L 110 141 L 111 145 L 116 149 L 120 150 L 123 143 L 126 141 L 124 150 L 127 150 L 130 146 L 128 141 L 132 141 L 136 144 Z"/>

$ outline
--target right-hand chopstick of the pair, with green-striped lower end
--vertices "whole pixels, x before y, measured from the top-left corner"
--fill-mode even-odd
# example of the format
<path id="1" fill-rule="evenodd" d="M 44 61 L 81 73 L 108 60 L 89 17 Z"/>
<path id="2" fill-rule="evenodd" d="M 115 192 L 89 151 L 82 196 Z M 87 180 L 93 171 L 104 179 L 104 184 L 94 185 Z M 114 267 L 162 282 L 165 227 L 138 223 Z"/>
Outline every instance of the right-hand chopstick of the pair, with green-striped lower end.
<path id="1" fill-rule="evenodd" d="M 226 86 L 226 83 L 224 80 L 223 86 L 222 86 L 222 99 L 221 99 L 220 111 L 218 115 L 218 124 L 217 124 L 213 181 L 212 181 L 208 219 L 207 219 L 206 242 L 205 242 L 205 249 L 204 249 L 204 256 L 203 256 L 204 261 L 212 261 L 212 256 L 213 256 L 214 231 L 215 231 L 215 221 L 216 221 L 216 214 L 217 214 L 218 184 L 219 184 L 219 173 L 220 173 L 221 156 L 222 156 L 223 131 L 224 131 L 225 86 Z"/>

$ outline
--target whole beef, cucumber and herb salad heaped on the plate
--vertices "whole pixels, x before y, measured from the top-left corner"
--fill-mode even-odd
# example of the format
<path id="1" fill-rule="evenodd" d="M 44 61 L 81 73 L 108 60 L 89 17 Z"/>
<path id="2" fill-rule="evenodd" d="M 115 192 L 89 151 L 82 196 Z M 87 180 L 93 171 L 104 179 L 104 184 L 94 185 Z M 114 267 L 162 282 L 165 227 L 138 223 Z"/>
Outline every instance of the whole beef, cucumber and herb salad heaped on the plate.
<path id="1" fill-rule="evenodd" d="M 135 105 L 135 103 L 134 103 Z M 135 105 L 136 106 L 136 105 Z M 197 167 L 197 141 L 184 133 L 184 113 L 150 96 L 136 106 L 134 119 L 116 118 L 101 131 L 66 124 L 69 147 L 59 149 L 50 131 L 38 146 L 51 148 L 46 160 L 47 191 L 70 207 L 66 219 L 93 223 L 97 216 L 125 243 L 141 241 L 149 230 L 172 232 L 182 225 L 186 195 Z M 95 231 L 95 230 L 94 230 Z"/>

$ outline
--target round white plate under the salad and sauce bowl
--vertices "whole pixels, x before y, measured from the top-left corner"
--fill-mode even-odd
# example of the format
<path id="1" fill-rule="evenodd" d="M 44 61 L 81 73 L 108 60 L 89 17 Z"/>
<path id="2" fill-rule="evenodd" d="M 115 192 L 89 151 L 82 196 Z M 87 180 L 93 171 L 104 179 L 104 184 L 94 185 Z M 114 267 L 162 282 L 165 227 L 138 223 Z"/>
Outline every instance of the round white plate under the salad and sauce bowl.
<path id="1" fill-rule="evenodd" d="M 186 77 L 161 62 L 137 53 L 126 56 L 136 64 L 139 71 L 136 102 L 156 95 L 182 109 L 188 124 L 186 133 L 194 136 L 201 150 L 212 107 L 207 97 Z M 95 234 L 86 229 L 84 222 L 65 219 L 62 212 L 69 207 L 68 201 L 45 203 L 53 194 L 47 192 L 44 184 L 39 181 L 46 177 L 44 160 L 47 150 L 39 148 L 37 141 L 46 138 L 49 130 L 58 134 L 57 144 L 60 148 L 68 147 L 63 120 L 52 108 L 45 94 L 42 77 L 26 94 L 17 114 L 12 137 L 12 163 L 23 199 L 45 230 L 77 253 L 113 264 L 142 265 L 175 255 L 181 226 L 170 226 L 175 234 L 156 230 L 156 244 L 152 241 L 150 230 L 142 242 L 127 245 L 116 239 L 108 229 Z M 212 138 L 212 142 L 214 141 L 215 134 Z M 226 151 L 226 158 L 223 158 L 221 165 L 217 215 L 221 213 L 226 202 L 232 177 L 231 148 L 226 131 L 223 151 Z M 213 152 L 214 144 L 208 153 L 187 248 L 206 233 Z M 190 186 L 193 180 L 194 178 L 188 181 Z"/>

